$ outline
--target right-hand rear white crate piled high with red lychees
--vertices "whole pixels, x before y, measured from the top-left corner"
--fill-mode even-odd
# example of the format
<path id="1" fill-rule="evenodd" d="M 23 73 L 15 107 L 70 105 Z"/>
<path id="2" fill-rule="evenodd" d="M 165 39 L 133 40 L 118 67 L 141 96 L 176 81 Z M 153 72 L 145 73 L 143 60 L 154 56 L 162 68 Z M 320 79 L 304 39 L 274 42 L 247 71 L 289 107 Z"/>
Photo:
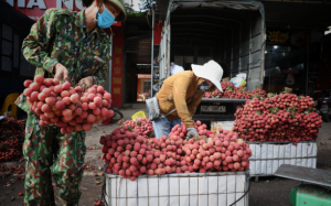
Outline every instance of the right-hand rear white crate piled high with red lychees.
<path id="1" fill-rule="evenodd" d="M 234 132 L 252 150 L 252 176 L 273 175 L 281 164 L 316 169 L 321 117 L 310 97 L 292 94 L 254 98 L 235 113 Z"/>

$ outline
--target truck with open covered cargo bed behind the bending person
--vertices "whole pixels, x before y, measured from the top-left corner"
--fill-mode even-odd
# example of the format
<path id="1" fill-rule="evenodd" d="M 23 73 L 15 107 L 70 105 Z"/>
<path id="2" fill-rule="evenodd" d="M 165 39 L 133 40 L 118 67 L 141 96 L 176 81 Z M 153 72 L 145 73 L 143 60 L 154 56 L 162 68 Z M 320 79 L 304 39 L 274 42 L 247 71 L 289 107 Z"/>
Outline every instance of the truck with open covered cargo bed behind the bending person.
<path id="1" fill-rule="evenodd" d="M 261 88 L 265 42 L 265 11 L 259 1 L 170 0 L 158 54 L 159 78 L 170 76 L 171 62 L 188 71 L 191 64 L 214 59 L 223 77 L 245 73 L 247 90 Z M 203 98 L 193 119 L 211 129 L 217 122 L 234 121 L 236 109 L 246 101 Z"/>

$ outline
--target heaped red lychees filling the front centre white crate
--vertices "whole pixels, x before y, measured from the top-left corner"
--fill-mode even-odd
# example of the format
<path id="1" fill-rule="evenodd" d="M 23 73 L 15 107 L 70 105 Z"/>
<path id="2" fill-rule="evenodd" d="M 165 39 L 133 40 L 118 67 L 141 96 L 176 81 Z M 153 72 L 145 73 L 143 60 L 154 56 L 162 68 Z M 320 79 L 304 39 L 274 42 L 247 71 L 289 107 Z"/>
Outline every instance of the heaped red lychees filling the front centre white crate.
<path id="1" fill-rule="evenodd" d="M 236 132 L 209 132 L 200 121 L 195 128 L 200 135 L 186 141 L 184 126 L 175 126 L 168 139 L 149 139 L 121 126 L 100 138 L 106 172 L 135 181 L 142 174 L 248 170 L 252 151 Z"/>

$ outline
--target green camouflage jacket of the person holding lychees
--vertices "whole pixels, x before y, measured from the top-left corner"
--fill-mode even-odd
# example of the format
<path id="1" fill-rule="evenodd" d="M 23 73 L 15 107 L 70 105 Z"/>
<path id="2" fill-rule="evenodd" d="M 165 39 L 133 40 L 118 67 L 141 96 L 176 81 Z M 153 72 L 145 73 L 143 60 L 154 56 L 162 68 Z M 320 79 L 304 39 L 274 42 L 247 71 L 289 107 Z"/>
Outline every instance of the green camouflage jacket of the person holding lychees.
<path id="1" fill-rule="evenodd" d="M 95 85 L 103 85 L 110 59 L 110 37 L 99 28 L 87 33 L 84 10 L 49 9 L 32 25 L 22 51 L 26 61 L 36 66 L 34 75 L 53 78 L 54 65 L 61 63 L 68 69 L 72 85 L 87 76 Z M 23 94 L 17 105 L 30 110 Z"/>

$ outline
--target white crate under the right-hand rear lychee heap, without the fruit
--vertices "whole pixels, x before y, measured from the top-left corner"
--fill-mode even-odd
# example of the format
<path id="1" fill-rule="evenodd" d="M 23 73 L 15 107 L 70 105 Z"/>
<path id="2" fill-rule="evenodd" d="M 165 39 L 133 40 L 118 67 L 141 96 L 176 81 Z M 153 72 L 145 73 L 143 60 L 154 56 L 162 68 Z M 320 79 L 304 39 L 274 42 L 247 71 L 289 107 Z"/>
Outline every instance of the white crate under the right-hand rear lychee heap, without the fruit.
<path id="1" fill-rule="evenodd" d="M 316 169 L 317 142 L 247 142 L 252 150 L 250 176 L 273 175 L 281 164 Z"/>

